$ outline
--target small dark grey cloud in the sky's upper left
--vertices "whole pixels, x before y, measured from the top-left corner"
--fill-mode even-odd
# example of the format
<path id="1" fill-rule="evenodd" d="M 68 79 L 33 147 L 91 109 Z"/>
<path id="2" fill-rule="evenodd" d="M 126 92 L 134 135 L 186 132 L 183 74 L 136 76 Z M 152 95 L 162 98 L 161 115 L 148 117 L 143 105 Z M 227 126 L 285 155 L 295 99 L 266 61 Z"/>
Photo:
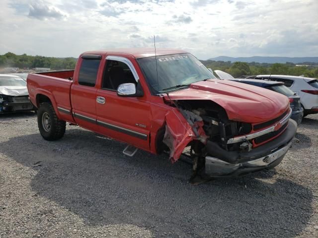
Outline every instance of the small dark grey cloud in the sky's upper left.
<path id="1" fill-rule="evenodd" d="M 37 1 L 30 4 L 28 16 L 39 20 L 45 20 L 48 18 L 61 19 L 67 15 L 60 9 L 54 6 L 49 6 L 44 1 Z"/>

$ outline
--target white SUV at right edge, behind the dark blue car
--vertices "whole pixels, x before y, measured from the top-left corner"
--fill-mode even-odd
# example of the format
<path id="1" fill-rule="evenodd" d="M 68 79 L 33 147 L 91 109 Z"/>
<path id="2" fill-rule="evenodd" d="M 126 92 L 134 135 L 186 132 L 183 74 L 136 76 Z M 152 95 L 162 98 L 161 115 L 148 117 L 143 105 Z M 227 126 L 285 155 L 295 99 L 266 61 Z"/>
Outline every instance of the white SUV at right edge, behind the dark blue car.
<path id="1" fill-rule="evenodd" d="M 285 86 L 300 96 L 304 117 L 318 113 L 318 79 L 290 75 L 257 75 L 248 78 L 284 82 Z"/>

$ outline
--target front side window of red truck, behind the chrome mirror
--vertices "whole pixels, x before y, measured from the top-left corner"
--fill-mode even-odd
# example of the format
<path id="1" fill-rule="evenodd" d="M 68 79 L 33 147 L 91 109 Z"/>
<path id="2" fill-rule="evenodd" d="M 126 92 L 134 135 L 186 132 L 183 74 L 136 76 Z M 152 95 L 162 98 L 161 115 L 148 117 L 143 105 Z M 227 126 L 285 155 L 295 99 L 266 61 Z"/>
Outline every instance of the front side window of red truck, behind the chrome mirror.
<path id="1" fill-rule="evenodd" d="M 117 90 L 122 83 L 134 83 L 137 86 L 137 81 L 126 63 L 117 60 L 107 60 L 102 88 Z"/>

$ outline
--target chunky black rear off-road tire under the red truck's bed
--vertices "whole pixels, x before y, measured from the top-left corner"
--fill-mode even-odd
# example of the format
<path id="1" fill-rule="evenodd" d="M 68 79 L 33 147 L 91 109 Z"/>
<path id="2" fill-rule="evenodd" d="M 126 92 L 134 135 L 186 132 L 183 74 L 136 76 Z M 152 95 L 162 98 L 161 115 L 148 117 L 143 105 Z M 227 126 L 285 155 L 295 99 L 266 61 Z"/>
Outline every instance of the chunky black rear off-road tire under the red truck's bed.
<path id="1" fill-rule="evenodd" d="M 39 130 L 45 140 L 58 140 L 64 136 L 66 122 L 58 119 L 51 103 L 41 103 L 37 116 Z"/>

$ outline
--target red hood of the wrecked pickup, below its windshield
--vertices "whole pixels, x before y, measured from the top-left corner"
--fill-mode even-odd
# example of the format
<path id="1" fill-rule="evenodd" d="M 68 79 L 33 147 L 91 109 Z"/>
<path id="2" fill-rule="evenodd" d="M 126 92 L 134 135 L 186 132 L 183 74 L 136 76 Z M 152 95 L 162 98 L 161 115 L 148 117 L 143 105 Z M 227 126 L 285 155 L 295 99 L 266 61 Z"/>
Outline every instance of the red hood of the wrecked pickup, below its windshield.
<path id="1" fill-rule="evenodd" d="M 165 100 L 211 100 L 226 110 L 229 119 L 249 123 L 277 118 L 289 108 L 289 99 L 282 94 L 219 79 L 192 83 L 187 89 L 163 97 Z"/>

